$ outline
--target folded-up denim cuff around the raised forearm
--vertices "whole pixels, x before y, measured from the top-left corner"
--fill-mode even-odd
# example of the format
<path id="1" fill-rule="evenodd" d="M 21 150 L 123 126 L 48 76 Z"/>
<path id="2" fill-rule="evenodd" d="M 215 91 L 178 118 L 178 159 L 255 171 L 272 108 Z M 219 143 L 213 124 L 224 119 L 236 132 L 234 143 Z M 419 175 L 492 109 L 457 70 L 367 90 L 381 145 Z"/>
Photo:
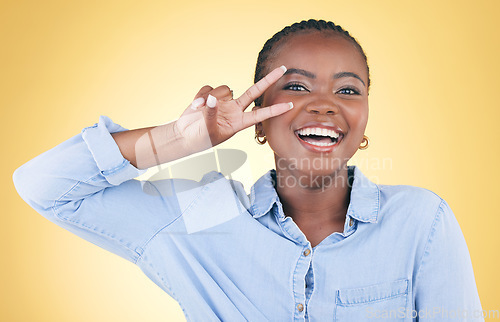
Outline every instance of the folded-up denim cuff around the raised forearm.
<path id="1" fill-rule="evenodd" d="M 147 169 L 137 169 L 125 159 L 111 136 L 111 133 L 126 130 L 105 115 L 99 117 L 99 123 L 82 130 L 82 138 L 92 153 L 97 167 L 106 180 L 113 185 L 119 185 L 147 171 Z"/>

